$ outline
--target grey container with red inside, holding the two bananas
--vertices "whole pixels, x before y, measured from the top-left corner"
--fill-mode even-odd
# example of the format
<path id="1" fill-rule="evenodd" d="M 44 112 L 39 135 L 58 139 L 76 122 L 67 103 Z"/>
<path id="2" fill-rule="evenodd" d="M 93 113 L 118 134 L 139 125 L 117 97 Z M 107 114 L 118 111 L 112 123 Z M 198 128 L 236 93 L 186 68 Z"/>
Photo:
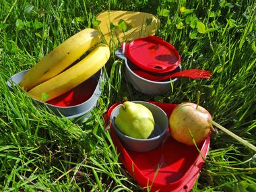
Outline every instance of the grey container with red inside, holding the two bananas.
<path id="1" fill-rule="evenodd" d="M 13 90 L 13 86 L 18 85 L 27 72 L 28 70 L 12 75 L 7 81 L 9 89 Z M 90 110 L 98 102 L 101 94 L 101 82 L 102 69 L 79 86 L 53 100 L 42 102 L 33 98 L 33 101 L 34 104 L 46 105 L 59 117 L 65 116 L 67 119 L 84 119 L 85 117 L 90 117 Z"/>

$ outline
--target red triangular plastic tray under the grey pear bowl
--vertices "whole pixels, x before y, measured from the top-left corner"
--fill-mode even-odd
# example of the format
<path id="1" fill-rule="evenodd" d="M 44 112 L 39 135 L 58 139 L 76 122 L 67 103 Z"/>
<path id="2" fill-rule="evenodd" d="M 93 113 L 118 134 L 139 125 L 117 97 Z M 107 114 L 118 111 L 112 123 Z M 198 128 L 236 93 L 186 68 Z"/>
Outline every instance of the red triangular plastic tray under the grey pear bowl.
<path id="1" fill-rule="evenodd" d="M 168 117 L 177 104 L 152 102 L 162 108 Z M 109 119 L 111 112 L 118 104 L 111 106 L 107 113 Z M 203 166 L 203 158 L 195 146 L 186 146 L 170 137 L 166 138 L 155 150 L 150 152 L 132 152 L 126 150 L 114 129 L 110 127 L 113 143 L 120 153 L 119 159 L 123 162 L 128 172 L 144 189 L 150 191 L 190 191 Z M 210 135 L 197 147 L 205 158 L 210 145 Z"/>

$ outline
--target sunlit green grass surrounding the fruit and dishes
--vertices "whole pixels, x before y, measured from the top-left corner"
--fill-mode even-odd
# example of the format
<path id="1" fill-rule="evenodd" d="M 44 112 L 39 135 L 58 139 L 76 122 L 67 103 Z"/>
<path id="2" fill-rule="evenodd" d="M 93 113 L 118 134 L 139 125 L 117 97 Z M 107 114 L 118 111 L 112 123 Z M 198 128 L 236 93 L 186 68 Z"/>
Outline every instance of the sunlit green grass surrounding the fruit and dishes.
<path id="1" fill-rule="evenodd" d="M 7 1 L 0 3 L 0 191 L 140 191 L 118 159 L 102 115 L 115 102 L 196 102 L 214 121 L 256 145 L 255 1 Z M 181 13 L 180 7 L 187 11 Z M 212 71 L 209 80 L 181 79 L 166 95 L 146 96 L 126 81 L 112 49 L 92 117 L 74 123 L 36 107 L 6 81 L 30 69 L 107 9 L 154 13 L 157 36 L 181 54 L 183 69 Z M 192 191 L 255 191 L 255 152 L 222 131 Z"/>

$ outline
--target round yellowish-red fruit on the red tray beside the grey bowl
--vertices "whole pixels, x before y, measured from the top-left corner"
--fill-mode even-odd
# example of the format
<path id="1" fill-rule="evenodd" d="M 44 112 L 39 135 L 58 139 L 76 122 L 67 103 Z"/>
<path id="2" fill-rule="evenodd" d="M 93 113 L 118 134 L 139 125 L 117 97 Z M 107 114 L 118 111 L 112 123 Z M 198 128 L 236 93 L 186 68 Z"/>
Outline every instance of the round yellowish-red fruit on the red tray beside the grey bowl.
<path id="1" fill-rule="evenodd" d="M 202 106 L 191 102 L 181 103 L 170 115 L 170 134 L 177 141 L 193 146 L 193 138 L 200 143 L 210 134 L 212 125 L 208 119 L 212 119 L 212 116 Z"/>

